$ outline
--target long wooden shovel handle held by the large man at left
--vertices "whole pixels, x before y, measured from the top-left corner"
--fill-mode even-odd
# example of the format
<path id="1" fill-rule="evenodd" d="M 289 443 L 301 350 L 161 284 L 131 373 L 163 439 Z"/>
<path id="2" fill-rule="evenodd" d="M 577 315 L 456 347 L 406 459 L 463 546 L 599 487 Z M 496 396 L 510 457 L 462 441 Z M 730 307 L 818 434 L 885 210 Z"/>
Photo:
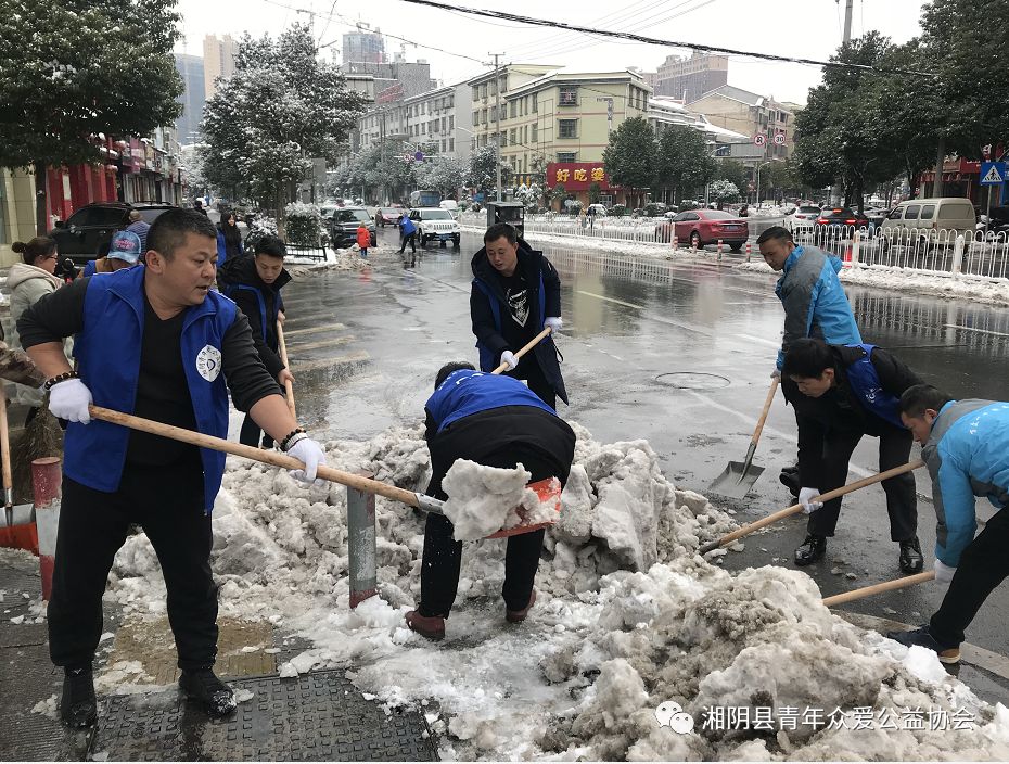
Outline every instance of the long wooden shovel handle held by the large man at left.
<path id="1" fill-rule="evenodd" d="M 181 441 L 182 443 L 189 443 L 194 446 L 200 446 L 201 448 L 210 448 L 216 451 L 223 451 L 225 454 L 242 456 L 246 459 L 260 461 L 264 464 L 282 467 L 285 470 L 305 469 L 305 464 L 285 454 L 268 451 L 241 443 L 231 443 L 231 441 L 225 441 L 219 437 L 214 437 L 213 435 L 204 435 L 202 432 L 193 432 L 192 430 L 176 428 L 162 422 L 153 422 L 150 419 L 133 417 L 129 413 L 123 413 L 122 411 L 113 411 L 112 409 L 102 408 L 101 406 L 92 405 L 89 406 L 88 409 L 91 411 L 91 416 L 94 419 L 101 419 L 102 421 L 119 424 L 124 428 L 130 428 L 131 430 L 140 430 L 142 432 L 149 432 L 152 435 L 170 437 L 173 441 Z M 365 494 L 378 494 L 379 496 L 384 496 L 395 501 L 403 501 L 403 504 L 410 505 L 411 507 L 417 507 L 419 505 L 417 494 L 410 491 L 397 488 L 395 485 L 380 483 L 376 480 L 361 478 L 360 475 L 344 472 L 343 470 L 336 470 L 332 467 L 320 466 L 318 476 L 322 480 L 356 488 Z"/>

